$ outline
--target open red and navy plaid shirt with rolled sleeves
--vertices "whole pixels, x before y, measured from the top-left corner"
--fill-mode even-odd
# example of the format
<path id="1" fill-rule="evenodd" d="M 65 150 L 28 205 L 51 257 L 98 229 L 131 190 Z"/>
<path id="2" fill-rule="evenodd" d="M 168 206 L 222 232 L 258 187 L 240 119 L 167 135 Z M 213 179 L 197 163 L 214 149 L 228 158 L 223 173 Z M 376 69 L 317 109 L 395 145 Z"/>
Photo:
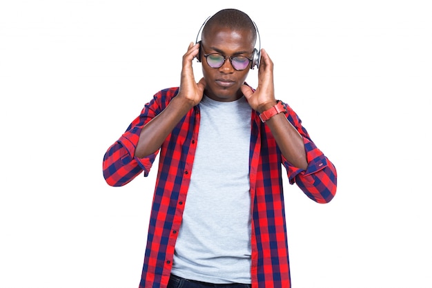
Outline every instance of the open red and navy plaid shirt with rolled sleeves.
<path id="1" fill-rule="evenodd" d="M 159 91 L 144 106 L 139 117 L 128 126 L 104 155 L 106 182 L 123 186 L 144 172 L 147 176 L 157 153 L 159 171 L 153 198 L 148 240 L 140 288 L 165 288 L 173 265 L 175 241 L 180 229 L 190 183 L 199 131 L 199 105 L 190 109 L 166 138 L 159 151 L 144 158 L 134 157 L 141 128 L 161 113 L 177 95 L 178 88 Z M 281 154 L 275 139 L 251 113 L 250 184 L 252 203 L 251 277 L 252 287 L 291 287 L 282 188 L 282 165 L 290 184 L 312 200 L 329 202 L 336 192 L 335 166 L 311 141 L 297 114 L 287 105 L 286 117 L 304 139 L 308 167 L 292 166 Z"/>

